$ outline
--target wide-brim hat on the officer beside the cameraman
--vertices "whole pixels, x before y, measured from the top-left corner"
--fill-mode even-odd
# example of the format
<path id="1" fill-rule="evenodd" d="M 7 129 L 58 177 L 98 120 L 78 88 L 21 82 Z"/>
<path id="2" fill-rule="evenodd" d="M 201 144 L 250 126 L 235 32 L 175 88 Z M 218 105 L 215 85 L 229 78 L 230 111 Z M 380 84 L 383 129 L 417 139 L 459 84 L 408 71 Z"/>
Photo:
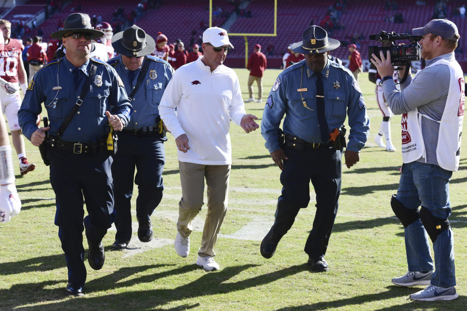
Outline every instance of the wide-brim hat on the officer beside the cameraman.
<path id="1" fill-rule="evenodd" d="M 320 26 L 310 26 L 303 32 L 303 40 L 292 44 L 293 52 L 302 54 L 317 54 L 339 48 L 341 42 L 328 38 L 327 32 Z"/>

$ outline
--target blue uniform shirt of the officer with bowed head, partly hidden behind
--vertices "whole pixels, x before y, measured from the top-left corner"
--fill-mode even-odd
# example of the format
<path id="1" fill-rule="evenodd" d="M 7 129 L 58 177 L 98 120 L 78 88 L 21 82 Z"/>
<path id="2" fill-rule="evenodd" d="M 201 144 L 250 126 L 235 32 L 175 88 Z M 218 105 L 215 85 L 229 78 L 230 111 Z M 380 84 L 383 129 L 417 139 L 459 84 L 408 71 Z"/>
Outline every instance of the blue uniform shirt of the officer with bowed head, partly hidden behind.
<path id="1" fill-rule="evenodd" d="M 133 87 L 136 86 L 136 81 L 144 62 L 150 62 L 149 67 L 143 82 L 132 98 L 131 105 L 133 106 L 133 111 L 131 119 L 126 125 L 126 130 L 139 130 L 145 126 L 153 126 L 155 128 L 157 126 L 159 103 L 161 102 L 165 87 L 172 78 L 174 69 L 166 61 L 151 55 L 144 56 L 141 67 L 134 70 L 136 72 L 133 75 L 130 74 L 131 70 L 125 67 L 121 55 L 108 61 L 108 64 L 115 68 L 122 78 L 128 96 L 133 91 Z"/>

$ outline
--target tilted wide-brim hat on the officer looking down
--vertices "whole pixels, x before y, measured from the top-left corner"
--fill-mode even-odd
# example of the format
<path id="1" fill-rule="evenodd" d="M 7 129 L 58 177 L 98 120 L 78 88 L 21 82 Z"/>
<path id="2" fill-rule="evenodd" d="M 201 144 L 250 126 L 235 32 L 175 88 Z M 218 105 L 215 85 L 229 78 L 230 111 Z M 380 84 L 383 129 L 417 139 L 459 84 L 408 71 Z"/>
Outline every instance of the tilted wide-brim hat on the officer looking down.
<path id="1" fill-rule="evenodd" d="M 133 25 L 113 35 L 112 47 L 115 52 L 127 57 L 141 57 L 154 52 L 156 41 L 143 29 Z"/>

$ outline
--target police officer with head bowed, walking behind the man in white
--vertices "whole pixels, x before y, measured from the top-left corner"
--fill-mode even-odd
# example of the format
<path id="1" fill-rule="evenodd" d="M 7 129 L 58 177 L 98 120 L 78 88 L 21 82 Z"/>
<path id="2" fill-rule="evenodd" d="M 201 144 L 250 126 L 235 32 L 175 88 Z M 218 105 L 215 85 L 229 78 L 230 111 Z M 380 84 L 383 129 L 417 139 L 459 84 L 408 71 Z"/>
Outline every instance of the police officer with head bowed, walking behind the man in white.
<path id="1" fill-rule="evenodd" d="M 130 96 L 136 90 L 131 96 L 131 121 L 118 135 L 118 151 L 112 164 L 117 213 L 117 233 L 112 248 L 124 249 L 131 238 L 130 200 L 135 167 L 138 238 L 141 242 L 152 239 L 150 217 L 162 199 L 162 170 L 165 162 L 163 142 L 167 140 L 159 117 L 159 102 L 174 70 L 166 61 L 150 55 L 156 43 L 136 25 L 114 35 L 112 46 L 120 55 L 108 63 L 122 77 Z M 141 83 L 138 84 L 138 81 Z"/>

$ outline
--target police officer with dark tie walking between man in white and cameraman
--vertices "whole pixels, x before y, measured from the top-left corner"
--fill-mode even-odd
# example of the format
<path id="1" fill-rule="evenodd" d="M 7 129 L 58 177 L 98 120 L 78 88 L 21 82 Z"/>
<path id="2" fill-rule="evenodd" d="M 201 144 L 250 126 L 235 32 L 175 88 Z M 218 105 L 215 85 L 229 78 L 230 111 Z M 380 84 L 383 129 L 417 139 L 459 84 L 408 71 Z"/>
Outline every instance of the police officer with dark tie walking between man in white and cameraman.
<path id="1" fill-rule="evenodd" d="M 316 215 L 305 244 L 308 265 L 329 270 L 324 260 L 336 218 L 341 192 L 341 157 L 345 145 L 343 122 L 349 117 L 350 135 L 345 151 L 348 168 L 359 161 L 370 121 L 359 85 L 352 72 L 327 59 L 340 42 L 327 37 L 319 26 L 310 26 L 292 51 L 305 60 L 279 74 L 269 93 L 261 123 L 266 148 L 282 170 L 284 186 L 277 202 L 274 225 L 261 243 L 261 255 L 271 258 L 277 244 L 292 226 L 300 208 L 310 200 L 309 182 L 316 192 Z M 284 120 L 285 141 L 279 125 Z"/>

